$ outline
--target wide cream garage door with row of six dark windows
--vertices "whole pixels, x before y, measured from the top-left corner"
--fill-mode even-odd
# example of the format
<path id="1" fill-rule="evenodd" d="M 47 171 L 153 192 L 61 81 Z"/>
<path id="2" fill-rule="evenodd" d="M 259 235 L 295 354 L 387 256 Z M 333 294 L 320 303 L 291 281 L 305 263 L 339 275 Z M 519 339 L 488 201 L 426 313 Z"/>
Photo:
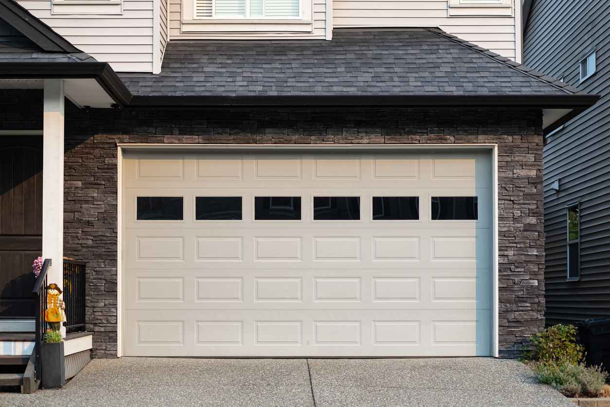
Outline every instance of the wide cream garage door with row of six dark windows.
<path id="1" fill-rule="evenodd" d="M 124 355 L 491 354 L 488 152 L 232 151 L 126 152 Z"/>

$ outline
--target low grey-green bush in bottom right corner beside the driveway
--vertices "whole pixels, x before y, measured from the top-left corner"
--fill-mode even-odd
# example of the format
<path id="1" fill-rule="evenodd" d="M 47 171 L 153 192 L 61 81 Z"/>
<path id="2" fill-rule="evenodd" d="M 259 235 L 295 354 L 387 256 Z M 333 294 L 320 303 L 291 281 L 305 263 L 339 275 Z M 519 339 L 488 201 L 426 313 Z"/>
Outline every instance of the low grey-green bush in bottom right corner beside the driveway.
<path id="1" fill-rule="evenodd" d="M 608 374 L 601 367 L 547 359 L 529 364 L 540 383 L 554 387 L 566 397 L 599 397 Z"/>

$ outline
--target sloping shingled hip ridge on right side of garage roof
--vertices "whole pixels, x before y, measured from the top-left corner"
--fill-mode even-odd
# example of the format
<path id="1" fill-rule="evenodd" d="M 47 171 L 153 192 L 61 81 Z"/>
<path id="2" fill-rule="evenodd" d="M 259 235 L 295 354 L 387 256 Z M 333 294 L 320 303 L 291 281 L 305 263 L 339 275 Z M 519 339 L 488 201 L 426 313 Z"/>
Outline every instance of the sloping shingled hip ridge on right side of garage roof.
<path id="1" fill-rule="evenodd" d="M 585 92 L 583 92 L 583 90 L 581 90 L 577 87 L 574 87 L 570 84 L 566 84 L 565 82 L 559 81 L 559 79 L 556 79 L 545 73 L 539 72 L 539 71 L 535 70 L 534 68 L 523 65 L 522 63 L 514 62 L 513 60 L 511 60 L 507 57 L 503 57 L 500 54 L 490 51 L 487 48 L 483 48 L 482 46 L 478 46 L 478 45 L 470 43 L 466 40 L 462 40 L 462 38 L 456 37 L 456 35 L 453 35 L 453 34 L 449 34 L 448 32 L 445 32 L 440 28 L 424 27 L 423 29 L 425 29 L 426 31 L 432 32 L 432 34 L 439 35 L 439 37 L 446 38 L 447 40 L 452 41 L 456 44 L 462 45 L 468 49 L 472 49 L 473 51 L 476 51 L 481 55 L 484 55 L 490 59 L 493 59 L 493 60 L 505 65 L 506 67 L 510 67 L 515 71 L 519 71 L 520 73 L 526 74 L 529 77 L 533 77 L 534 79 L 538 79 L 539 81 L 545 82 L 545 84 L 548 84 L 554 88 L 562 90 L 569 95 L 585 95 L 586 94 Z"/>

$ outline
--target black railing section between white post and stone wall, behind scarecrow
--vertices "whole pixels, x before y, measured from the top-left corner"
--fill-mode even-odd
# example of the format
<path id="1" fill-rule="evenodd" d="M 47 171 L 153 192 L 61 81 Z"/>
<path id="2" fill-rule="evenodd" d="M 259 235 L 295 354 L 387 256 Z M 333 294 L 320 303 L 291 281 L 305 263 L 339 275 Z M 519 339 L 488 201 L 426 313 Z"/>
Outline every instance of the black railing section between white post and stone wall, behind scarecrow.
<path id="1" fill-rule="evenodd" d="M 85 330 L 85 263 L 63 259 L 63 302 L 66 333 Z"/>

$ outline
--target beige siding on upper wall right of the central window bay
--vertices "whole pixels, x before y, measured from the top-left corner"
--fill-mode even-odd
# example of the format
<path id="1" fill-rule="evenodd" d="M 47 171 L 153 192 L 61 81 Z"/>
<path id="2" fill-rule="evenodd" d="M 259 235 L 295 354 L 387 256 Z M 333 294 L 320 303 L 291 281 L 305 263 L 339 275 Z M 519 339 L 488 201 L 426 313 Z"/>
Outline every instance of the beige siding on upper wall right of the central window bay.
<path id="1" fill-rule="evenodd" d="M 515 59 L 514 16 L 448 16 L 447 0 L 334 0 L 340 27 L 440 27 L 501 56 Z"/>

